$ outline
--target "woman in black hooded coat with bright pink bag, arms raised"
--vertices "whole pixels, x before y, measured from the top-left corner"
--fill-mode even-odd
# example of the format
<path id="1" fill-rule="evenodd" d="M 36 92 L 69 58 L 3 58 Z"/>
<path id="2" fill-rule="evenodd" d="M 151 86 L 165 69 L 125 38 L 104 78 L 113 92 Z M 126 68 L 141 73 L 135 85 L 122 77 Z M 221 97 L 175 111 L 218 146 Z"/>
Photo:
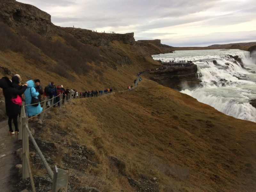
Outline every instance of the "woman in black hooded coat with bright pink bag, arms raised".
<path id="1" fill-rule="evenodd" d="M 22 104 L 22 100 L 19 95 L 22 95 L 26 91 L 27 84 L 20 85 L 14 89 L 11 80 L 8 77 L 3 77 L 0 79 L 0 87 L 3 89 L 4 93 L 6 115 L 9 117 L 9 134 L 17 134 L 19 133 L 17 119 L 18 114 L 20 113 L 20 106 Z M 15 132 L 12 130 L 12 119 L 15 126 Z"/>

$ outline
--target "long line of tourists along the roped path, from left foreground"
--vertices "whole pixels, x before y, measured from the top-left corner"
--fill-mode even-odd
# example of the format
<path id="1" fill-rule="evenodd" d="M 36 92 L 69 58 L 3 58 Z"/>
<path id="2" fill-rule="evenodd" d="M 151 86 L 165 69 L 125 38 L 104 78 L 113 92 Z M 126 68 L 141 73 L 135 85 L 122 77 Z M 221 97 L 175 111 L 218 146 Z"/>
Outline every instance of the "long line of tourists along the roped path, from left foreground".
<path id="1" fill-rule="evenodd" d="M 43 100 L 47 100 L 46 107 L 50 107 L 53 102 L 53 107 L 60 106 L 60 96 L 63 96 L 62 102 L 68 100 L 70 97 L 84 98 L 84 97 L 98 97 L 98 95 L 108 94 L 113 92 L 112 88 L 99 91 L 85 91 L 79 92 L 74 89 L 65 89 L 63 85 L 54 85 L 54 82 L 50 82 L 46 87 L 40 85 L 40 80 L 35 79 L 27 81 L 25 84 L 21 84 L 20 75 L 16 74 L 12 76 L 12 80 L 8 77 L 0 79 L 0 88 L 3 89 L 5 98 L 6 115 L 8 116 L 9 134 L 18 134 L 18 115 L 20 116 L 22 101 L 25 101 L 26 115 L 29 118 L 29 122 L 35 122 L 39 120 L 39 116 L 42 112 Z M 23 97 L 24 94 L 24 97 Z M 39 114 L 39 115 L 38 115 Z M 15 127 L 15 131 L 12 129 L 12 122 Z"/>

